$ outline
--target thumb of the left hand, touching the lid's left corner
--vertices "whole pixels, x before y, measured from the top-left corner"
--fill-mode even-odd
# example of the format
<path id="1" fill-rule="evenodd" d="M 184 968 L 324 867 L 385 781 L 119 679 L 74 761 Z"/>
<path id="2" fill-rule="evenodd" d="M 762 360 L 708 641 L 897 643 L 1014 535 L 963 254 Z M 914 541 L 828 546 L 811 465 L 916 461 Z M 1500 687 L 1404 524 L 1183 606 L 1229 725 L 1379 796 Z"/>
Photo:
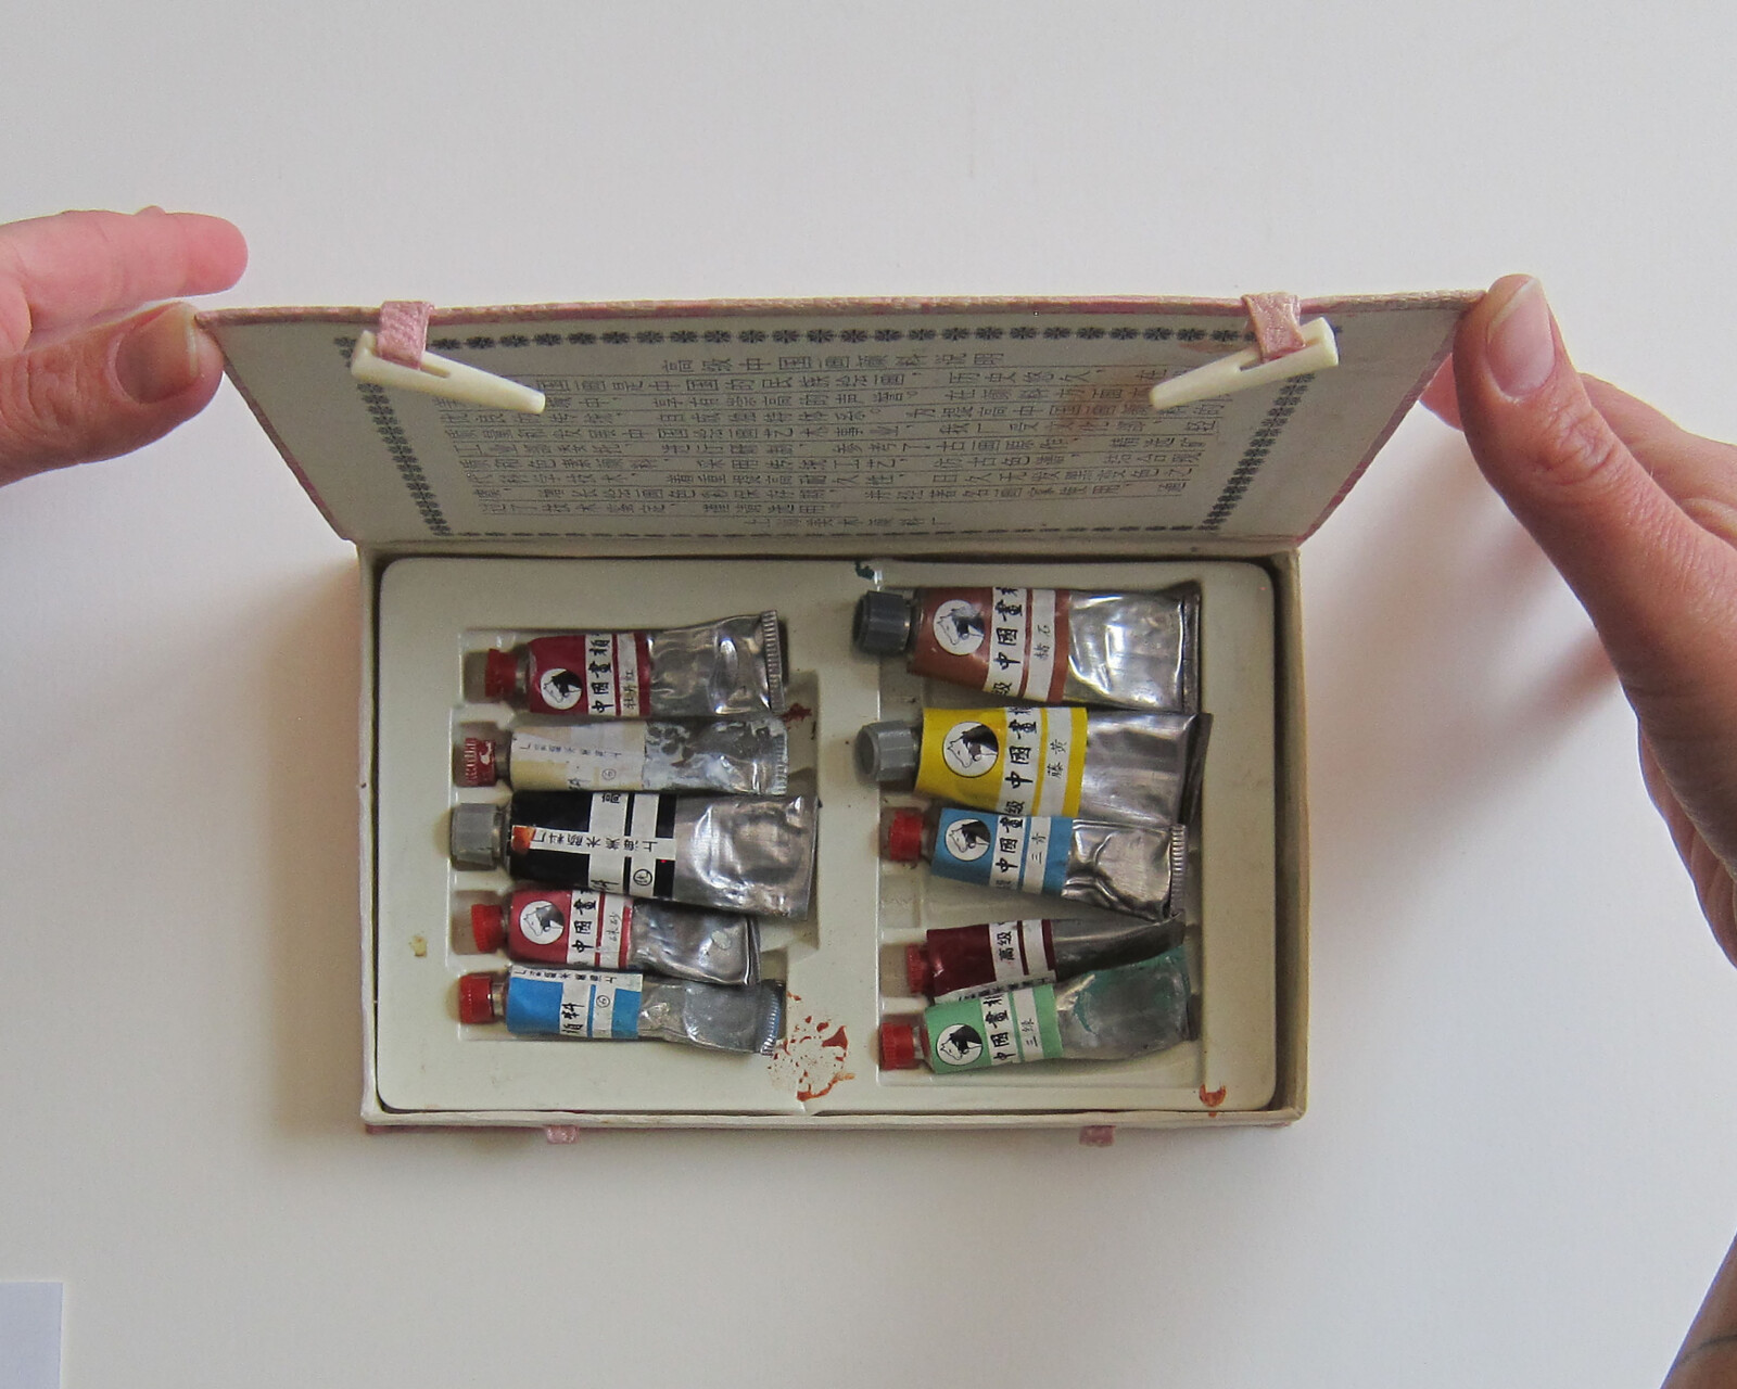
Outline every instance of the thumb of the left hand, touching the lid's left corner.
<path id="1" fill-rule="evenodd" d="M 191 304 L 0 359 L 0 483 L 142 448 L 203 410 L 221 379 Z"/>

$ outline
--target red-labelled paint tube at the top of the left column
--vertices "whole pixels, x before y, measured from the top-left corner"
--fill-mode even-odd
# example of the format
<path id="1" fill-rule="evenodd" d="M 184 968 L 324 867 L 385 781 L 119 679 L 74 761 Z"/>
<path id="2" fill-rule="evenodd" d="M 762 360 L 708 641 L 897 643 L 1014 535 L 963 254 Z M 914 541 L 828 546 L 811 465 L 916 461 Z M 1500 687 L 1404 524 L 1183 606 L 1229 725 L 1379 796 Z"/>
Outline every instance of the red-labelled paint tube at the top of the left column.
<path id="1" fill-rule="evenodd" d="M 533 714 L 591 719 L 716 719 L 783 714 L 776 613 L 658 632 L 563 632 L 485 651 L 481 696 Z"/>

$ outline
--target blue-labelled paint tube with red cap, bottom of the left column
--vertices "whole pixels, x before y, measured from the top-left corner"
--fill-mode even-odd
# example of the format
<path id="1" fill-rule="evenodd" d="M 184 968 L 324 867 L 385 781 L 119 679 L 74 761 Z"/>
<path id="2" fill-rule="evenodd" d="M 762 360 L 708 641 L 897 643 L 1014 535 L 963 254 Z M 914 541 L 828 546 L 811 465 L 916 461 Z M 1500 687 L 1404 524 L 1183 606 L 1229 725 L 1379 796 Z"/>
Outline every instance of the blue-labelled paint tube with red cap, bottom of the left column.
<path id="1" fill-rule="evenodd" d="M 657 1038 L 771 1056 L 783 1031 L 783 986 L 724 988 L 646 974 L 514 965 L 505 974 L 460 978 L 459 1021 L 504 1021 L 519 1037 Z"/>

